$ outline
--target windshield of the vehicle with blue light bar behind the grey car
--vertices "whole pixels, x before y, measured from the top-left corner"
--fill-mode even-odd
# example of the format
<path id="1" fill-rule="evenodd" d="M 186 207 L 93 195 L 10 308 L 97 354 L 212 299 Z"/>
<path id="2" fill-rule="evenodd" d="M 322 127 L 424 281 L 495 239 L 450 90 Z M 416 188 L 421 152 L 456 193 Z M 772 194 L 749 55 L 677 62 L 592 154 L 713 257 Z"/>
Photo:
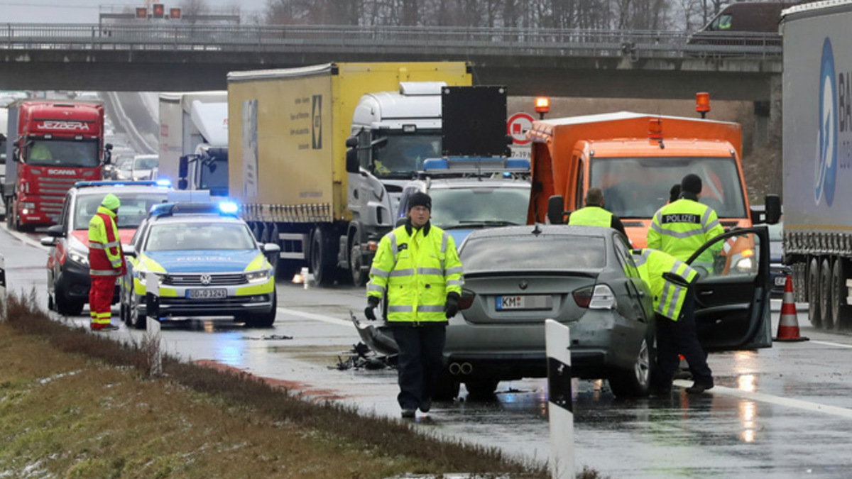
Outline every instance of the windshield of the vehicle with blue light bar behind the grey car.
<path id="1" fill-rule="evenodd" d="M 527 224 L 530 188 L 433 188 L 431 221 L 444 229 Z"/>

